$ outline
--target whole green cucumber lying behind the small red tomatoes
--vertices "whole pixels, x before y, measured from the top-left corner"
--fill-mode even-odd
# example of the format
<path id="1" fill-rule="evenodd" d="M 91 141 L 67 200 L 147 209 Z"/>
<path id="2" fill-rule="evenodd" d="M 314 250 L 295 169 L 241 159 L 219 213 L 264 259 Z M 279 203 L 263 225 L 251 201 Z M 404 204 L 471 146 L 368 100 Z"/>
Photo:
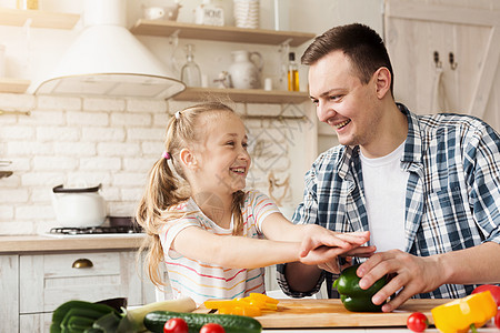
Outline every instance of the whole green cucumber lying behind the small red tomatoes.
<path id="1" fill-rule="evenodd" d="M 201 326 L 216 323 L 224 327 L 226 333 L 258 333 L 262 325 L 254 319 L 233 314 L 204 314 L 172 311 L 153 311 L 146 315 L 144 326 L 153 333 L 163 333 L 164 323 L 172 317 L 183 319 L 188 323 L 189 333 L 200 332 Z"/>

